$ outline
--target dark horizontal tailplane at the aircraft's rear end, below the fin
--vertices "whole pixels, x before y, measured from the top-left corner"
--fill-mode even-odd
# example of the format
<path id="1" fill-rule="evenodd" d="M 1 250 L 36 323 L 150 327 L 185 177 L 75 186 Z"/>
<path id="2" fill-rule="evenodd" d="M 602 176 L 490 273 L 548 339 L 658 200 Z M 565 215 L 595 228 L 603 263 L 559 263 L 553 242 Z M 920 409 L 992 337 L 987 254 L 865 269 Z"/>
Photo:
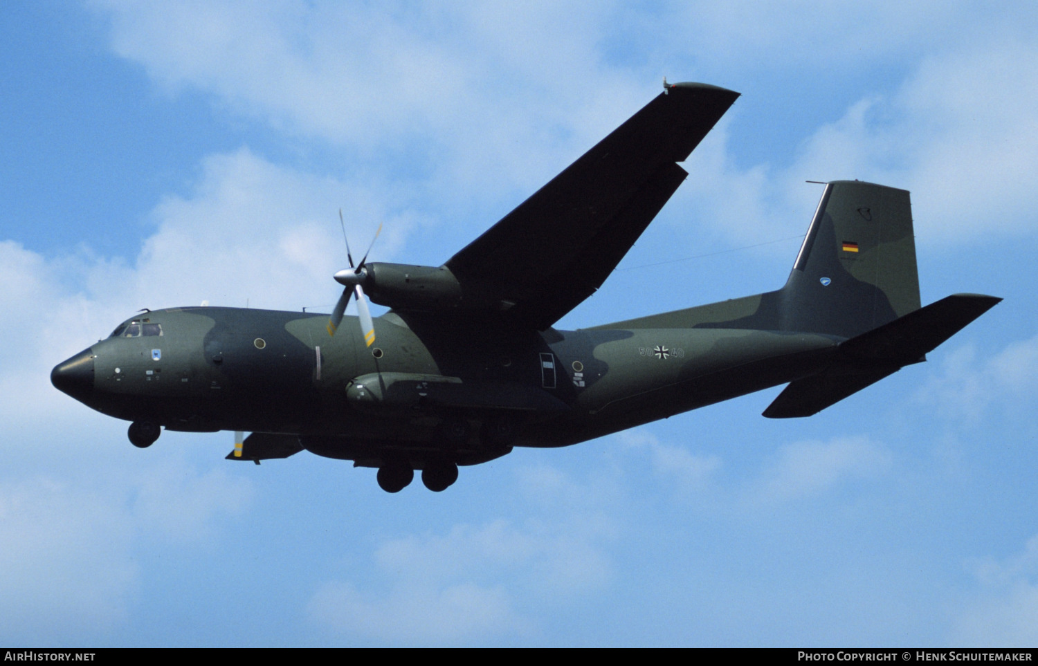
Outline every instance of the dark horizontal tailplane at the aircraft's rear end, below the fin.
<path id="1" fill-rule="evenodd" d="M 764 416 L 792 418 L 817 414 L 904 365 L 925 361 L 929 352 L 1001 300 L 993 296 L 955 294 L 845 340 L 831 366 L 819 374 L 791 382 L 764 410 Z"/>

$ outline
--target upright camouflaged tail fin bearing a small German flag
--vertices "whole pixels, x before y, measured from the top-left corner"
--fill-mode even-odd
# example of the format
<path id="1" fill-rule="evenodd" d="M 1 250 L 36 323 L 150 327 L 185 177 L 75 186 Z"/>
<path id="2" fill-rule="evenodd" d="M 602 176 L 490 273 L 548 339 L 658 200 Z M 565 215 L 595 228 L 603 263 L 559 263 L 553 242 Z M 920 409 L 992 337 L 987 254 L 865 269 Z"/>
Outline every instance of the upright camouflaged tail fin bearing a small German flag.
<path id="1" fill-rule="evenodd" d="M 827 184 L 778 296 L 783 330 L 848 338 L 918 310 L 908 192 Z"/>

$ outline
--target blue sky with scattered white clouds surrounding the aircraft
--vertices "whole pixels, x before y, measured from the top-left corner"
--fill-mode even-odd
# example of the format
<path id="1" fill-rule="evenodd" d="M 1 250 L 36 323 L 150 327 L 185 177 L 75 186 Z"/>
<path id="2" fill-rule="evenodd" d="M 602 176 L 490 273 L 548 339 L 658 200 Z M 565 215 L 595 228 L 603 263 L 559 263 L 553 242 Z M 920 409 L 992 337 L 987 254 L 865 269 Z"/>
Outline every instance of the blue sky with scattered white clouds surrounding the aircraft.
<path id="1" fill-rule="evenodd" d="M 0 641 L 1035 644 L 1038 11 L 989 7 L 0 4 Z M 141 307 L 330 309 L 339 207 L 442 262 L 663 76 L 743 96 L 562 328 L 780 286 L 836 178 L 912 192 L 925 303 L 1005 302 L 809 419 L 776 388 L 442 494 L 138 450 L 51 387 Z"/>

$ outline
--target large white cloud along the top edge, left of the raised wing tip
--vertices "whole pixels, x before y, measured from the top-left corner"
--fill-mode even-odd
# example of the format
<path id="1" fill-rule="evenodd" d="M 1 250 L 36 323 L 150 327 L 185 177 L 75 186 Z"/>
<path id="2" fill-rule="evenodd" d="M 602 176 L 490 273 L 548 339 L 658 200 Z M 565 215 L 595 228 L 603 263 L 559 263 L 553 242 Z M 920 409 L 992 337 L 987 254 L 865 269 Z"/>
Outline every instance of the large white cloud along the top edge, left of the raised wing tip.
<path id="1" fill-rule="evenodd" d="M 625 73 L 601 64 L 601 3 L 95 6 L 111 18 L 115 52 L 160 86 L 210 93 L 375 170 L 406 156 L 409 172 L 434 182 L 428 196 L 464 192 L 456 203 L 516 183 L 529 194 L 557 156 L 624 119 L 613 107 L 640 100 L 617 85 Z"/>

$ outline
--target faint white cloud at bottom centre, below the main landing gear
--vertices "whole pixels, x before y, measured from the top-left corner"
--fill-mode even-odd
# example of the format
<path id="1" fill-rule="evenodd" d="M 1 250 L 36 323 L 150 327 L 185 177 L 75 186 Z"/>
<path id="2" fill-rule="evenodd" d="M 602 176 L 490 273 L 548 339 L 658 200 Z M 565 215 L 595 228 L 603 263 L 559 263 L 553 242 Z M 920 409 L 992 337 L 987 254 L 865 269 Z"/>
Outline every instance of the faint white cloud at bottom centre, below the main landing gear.
<path id="1" fill-rule="evenodd" d="M 378 575 L 363 585 L 321 585 L 308 608 L 312 620 L 336 634 L 391 642 L 528 637 L 542 629 L 545 608 L 606 587 L 613 571 L 604 545 L 617 526 L 606 509 L 592 507 L 601 497 L 597 484 L 544 467 L 521 470 L 519 481 L 524 503 L 543 518 L 386 539 L 373 556 Z"/>

